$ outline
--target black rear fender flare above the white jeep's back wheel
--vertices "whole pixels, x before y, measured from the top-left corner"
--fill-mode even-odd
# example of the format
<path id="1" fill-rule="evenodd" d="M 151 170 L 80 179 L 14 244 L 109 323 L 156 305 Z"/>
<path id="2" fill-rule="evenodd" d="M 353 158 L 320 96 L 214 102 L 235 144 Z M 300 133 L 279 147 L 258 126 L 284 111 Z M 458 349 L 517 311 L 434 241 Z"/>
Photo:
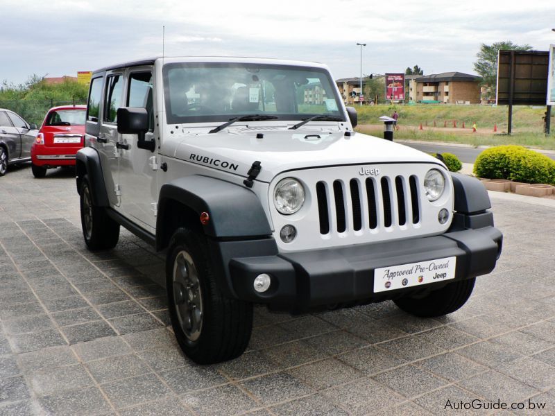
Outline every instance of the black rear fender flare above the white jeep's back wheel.
<path id="1" fill-rule="evenodd" d="M 76 154 L 76 185 L 78 193 L 85 175 L 89 176 L 92 203 L 96 207 L 110 207 L 104 176 L 102 175 L 100 155 L 98 150 L 92 147 L 82 148 Z"/>

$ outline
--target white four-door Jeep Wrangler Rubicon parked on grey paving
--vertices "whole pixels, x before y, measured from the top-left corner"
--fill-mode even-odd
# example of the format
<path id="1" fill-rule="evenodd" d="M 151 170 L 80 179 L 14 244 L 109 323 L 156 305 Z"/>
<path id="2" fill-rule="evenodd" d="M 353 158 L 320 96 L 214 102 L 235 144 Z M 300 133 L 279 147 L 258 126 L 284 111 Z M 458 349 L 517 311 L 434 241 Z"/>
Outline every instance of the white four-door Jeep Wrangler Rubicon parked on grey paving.
<path id="1" fill-rule="evenodd" d="M 486 190 L 356 124 L 323 64 L 95 71 L 77 154 L 85 242 L 113 248 L 123 225 L 166 250 L 171 322 L 197 363 L 244 352 L 254 303 L 456 311 L 501 252 Z"/>

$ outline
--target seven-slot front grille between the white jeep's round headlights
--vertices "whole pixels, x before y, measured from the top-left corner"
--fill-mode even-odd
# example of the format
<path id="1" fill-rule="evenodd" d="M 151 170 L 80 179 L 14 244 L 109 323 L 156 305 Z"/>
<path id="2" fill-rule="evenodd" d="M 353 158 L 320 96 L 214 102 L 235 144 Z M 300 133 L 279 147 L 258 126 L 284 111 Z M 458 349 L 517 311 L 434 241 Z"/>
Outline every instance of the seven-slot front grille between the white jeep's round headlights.
<path id="1" fill-rule="evenodd" d="M 418 177 L 316 182 L 320 234 L 406 229 L 420 222 Z"/>

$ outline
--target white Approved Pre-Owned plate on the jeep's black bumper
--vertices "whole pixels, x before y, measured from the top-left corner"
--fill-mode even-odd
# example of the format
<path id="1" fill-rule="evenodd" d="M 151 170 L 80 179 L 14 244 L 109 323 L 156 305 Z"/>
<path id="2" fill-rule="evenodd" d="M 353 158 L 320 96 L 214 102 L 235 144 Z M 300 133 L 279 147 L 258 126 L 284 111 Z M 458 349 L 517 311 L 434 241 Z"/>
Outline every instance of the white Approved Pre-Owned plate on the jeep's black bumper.
<path id="1" fill-rule="evenodd" d="M 374 293 L 455 278 L 456 257 L 419 261 L 374 270 Z"/>

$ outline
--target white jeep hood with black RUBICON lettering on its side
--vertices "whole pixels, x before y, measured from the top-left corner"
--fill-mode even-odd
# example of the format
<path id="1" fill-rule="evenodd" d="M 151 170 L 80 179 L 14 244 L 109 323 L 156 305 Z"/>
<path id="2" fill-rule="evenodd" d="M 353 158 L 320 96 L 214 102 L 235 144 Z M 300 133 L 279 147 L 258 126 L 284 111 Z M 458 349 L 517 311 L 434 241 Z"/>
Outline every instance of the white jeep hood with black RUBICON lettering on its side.
<path id="1" fill-rule="evenodd" d="M 263 137 L 257 138 L 261 134 Z M 385 162 L 441 164 L 438 159 L 402 144 L 360 133 L 345 136 L 337 130 L 230 129 L 214 134 L 184 135 L 171 147 L 162 153 L 245 177 L 253 162 L 259 160 L 262 170 L 257 180 L 263 182 L 271 182 L 284 171 L 318 166 Z"/>

